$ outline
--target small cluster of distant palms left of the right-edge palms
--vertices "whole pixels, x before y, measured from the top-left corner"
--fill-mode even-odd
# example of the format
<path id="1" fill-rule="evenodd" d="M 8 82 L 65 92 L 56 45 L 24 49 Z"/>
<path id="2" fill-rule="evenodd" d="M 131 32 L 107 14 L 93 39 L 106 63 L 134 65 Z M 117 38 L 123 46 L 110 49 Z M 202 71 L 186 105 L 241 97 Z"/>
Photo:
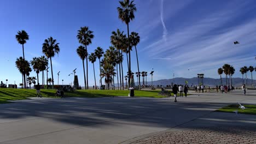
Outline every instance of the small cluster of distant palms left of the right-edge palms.
<path id="1" fill-rule="evenodd" d="M 232 75 L 234 75 L 235 73 L 235 68 L 230 65 L 230 64 L 224 64 L 222 66 L 222 68 L 219 68 L 218 69 L 218 74 L 220 75 L 220 84 L 223 85 L 223 82 L 222 82 L 222 74 L 226 75 L 226 86 L 230 85 L 232 86 Z M 228 80 L 228 75 L 229 75 L 229 80 Z M 230 81 L 230 82 L 229 82 Z"/>

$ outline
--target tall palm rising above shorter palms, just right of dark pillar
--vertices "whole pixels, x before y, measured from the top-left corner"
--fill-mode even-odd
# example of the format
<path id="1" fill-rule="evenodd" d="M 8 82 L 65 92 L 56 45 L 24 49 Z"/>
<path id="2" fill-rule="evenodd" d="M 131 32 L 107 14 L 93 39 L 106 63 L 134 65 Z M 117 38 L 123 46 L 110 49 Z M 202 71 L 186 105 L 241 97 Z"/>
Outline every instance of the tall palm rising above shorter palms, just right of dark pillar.
<path id="1" fill-rule="evenodd" d="M 85 50 L 87 51 L 87 46 L 91 44 L 91 40 L 94 38 L 93 32 L 89 30 L 88 27 L 81 27 L 78 30 L 77 38 L 79 43 L 85 46 Z M 88 51 L 87 51 L 88 52 Z M 87 76 L 87 89 L 88 86 L 88 55 L 86 55 L 86 76 Z"/>

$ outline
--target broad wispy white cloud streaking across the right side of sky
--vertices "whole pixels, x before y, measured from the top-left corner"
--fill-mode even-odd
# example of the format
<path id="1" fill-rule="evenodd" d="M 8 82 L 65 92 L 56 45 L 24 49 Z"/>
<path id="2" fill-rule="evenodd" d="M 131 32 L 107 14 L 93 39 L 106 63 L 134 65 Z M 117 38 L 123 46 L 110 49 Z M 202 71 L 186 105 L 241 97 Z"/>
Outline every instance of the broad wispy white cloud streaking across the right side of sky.
<path id="1" fill-rule="evenodd" d="M 247 4 L 227 4 L 226 7 L 202 14 L 205 16 L 195 15 L 201 16 L 200 19 L 184 20 L 183 26 L 177 26 L 168 33 L 161 1 L 162 37 L 152 41 L 142 51 L 154 61 L 166 63 L 166 67 L 174 69 L 176 76 L 193 77 L 200 71 L 208 76 L 218 76 L 216 69 L 224 63 L 234 65 L 239 74 L 240 67 L 255 63 L 256 19 L 251 17 L 237 21 L 251 9 L 245 9 Z M 172 17 L 168 19 L 170 21 Z M 235 40 L 240 44 L 234 45 Z"/>

